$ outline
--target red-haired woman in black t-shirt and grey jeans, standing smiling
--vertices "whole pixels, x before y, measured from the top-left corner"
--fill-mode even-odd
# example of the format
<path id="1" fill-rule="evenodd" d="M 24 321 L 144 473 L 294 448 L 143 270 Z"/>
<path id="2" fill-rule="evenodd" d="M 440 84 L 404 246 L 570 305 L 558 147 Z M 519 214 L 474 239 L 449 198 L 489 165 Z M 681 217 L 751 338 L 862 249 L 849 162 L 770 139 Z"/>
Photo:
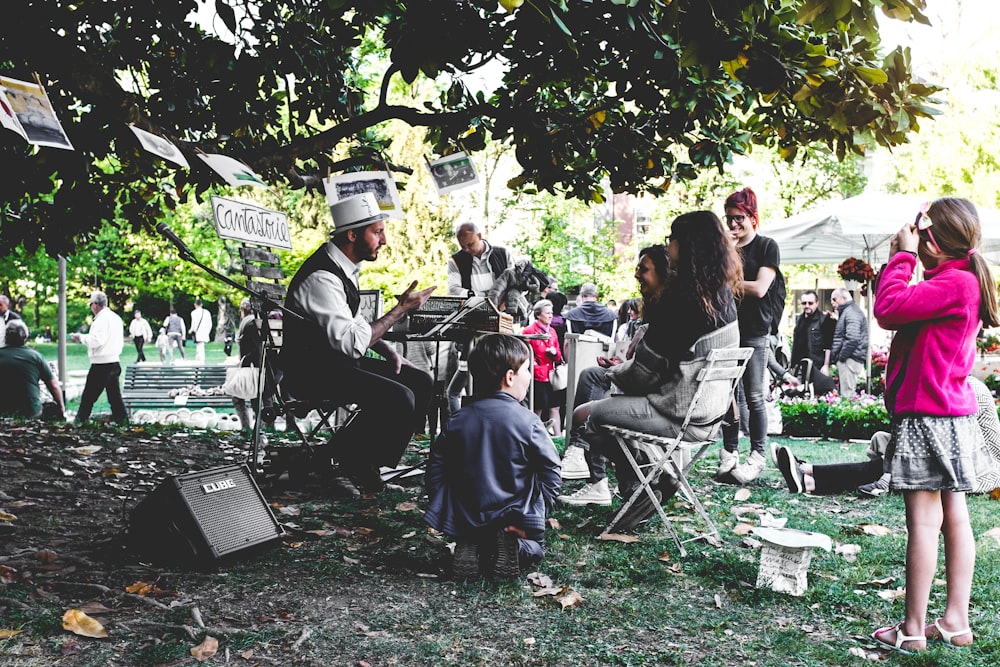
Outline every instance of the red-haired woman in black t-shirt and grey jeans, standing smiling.
<path id="1" fill-rule="evenodd" d="M 743 374 L 742 390 L 750 410 L 750 454 L 740 463 L 740 425 L 730 411 L 722 429 L 719 477 L 731 476 L 740 484 L 760 477 L 766 465 L 767 410 L 764 405 L 764 369 L 767 365 L 767 337 L 773 318 L 768 290 L 778 274 L 781 256 L 773 239 L 757 233 L 760 216 L 757 195 L 750 188 L 734 192 L 726 199 L 726 225 L 743 257 L 743 295 L 739 302 L 740 347 L 752 347 L 753 357 Z"/>

